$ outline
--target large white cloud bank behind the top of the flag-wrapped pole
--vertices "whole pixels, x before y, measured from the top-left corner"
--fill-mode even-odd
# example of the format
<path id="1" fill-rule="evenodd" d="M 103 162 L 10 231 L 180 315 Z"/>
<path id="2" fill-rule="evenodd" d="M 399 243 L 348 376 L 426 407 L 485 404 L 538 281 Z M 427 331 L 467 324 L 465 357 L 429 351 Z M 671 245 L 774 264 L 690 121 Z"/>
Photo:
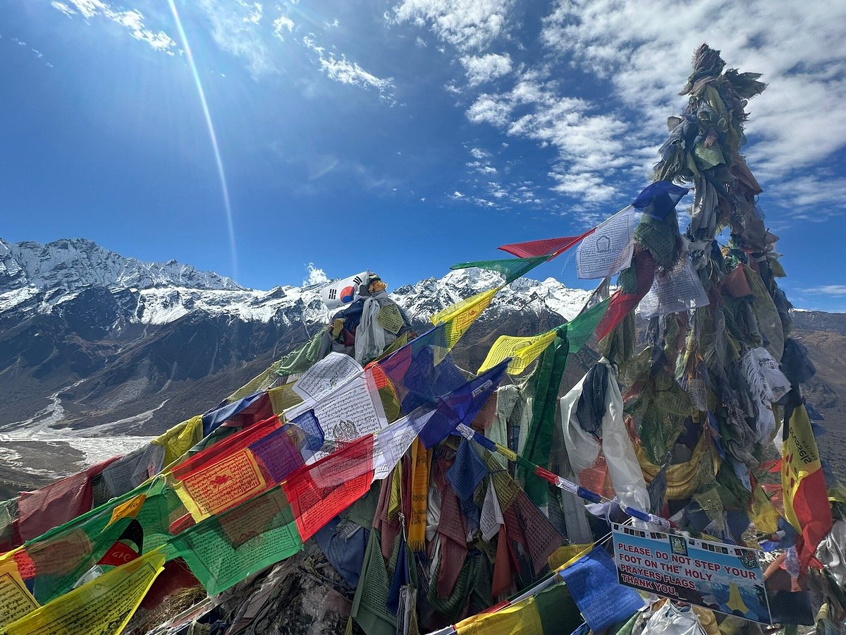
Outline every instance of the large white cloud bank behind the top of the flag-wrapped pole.
<path id="1" fill-rule="evenodd" d="M 753 0 L 559 0 L 541 40 L 572 63 L 606 77 L 629 107 L 645 115 L 644 136 L 666 135 L 689 53 L 702 42 L 729 67 L 764 74 L 769 87 L 747 108 L 750 166 L 780 179 L 846 145 L 846 4 Z"/>

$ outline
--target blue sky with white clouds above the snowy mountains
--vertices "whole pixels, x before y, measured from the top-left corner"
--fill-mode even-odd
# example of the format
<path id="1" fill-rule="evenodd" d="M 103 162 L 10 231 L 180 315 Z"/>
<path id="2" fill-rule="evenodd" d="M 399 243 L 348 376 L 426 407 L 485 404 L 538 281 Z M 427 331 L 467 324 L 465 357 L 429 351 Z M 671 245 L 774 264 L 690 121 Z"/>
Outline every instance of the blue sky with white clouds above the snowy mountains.
<path id="1" fill-rule="evenodd" d="M 173 6 L 184 38 L 162 0 L 4 3 L 0 237 L 82 236 L 257 289 L 310 262 L 441 276 L 628 204 L 708 41 L 769 83 L 744 152 L 788 297 L 846 311 L 844 3 Z M 591 286 L 567 254 L 533 274 Z"/>

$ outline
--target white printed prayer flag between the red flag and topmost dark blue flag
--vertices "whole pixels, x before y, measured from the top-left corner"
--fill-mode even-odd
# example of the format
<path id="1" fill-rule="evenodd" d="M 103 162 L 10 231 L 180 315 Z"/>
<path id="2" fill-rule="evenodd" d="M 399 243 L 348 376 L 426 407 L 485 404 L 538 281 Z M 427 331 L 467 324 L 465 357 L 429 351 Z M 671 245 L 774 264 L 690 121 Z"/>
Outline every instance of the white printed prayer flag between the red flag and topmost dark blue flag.
<path id="1" fill-rule="evenodd" d="M 581 279 L 607 278 L 629 266 L 634 254 L 637 211 L 625 207 L 596 226 L 576 250 L 576 273 Z"/>

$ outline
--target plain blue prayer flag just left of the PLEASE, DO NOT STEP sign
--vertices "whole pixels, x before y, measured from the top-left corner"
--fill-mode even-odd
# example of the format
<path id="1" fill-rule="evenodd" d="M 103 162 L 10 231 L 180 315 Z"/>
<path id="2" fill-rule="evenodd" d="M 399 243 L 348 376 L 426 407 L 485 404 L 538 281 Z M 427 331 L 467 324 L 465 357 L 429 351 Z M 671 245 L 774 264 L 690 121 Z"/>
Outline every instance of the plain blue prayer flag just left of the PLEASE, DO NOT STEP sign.
<path id="1" fill-rule="evenodd" d="M 558 573 L 593 632 L 626 621 L 645 602 L 632 588 L 617 581 L 617 568 L 605 549 L 591 551 Z"/>

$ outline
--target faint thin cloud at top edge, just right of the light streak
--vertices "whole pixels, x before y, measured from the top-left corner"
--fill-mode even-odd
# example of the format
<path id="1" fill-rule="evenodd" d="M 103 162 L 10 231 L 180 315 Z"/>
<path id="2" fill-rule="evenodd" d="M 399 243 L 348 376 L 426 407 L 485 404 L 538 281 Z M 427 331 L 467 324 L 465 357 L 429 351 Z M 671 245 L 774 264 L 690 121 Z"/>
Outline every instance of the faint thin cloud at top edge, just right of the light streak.
<path id="1" fill-rule="evenodd" d="M 211 23 L 211 37 L 223 51 L 243 58 L 254 79 L 277 73 L 261 31 L 250 20 L 255 7 L 245 2 L 238 6 L 222 0 L 197 0 Z"/>

